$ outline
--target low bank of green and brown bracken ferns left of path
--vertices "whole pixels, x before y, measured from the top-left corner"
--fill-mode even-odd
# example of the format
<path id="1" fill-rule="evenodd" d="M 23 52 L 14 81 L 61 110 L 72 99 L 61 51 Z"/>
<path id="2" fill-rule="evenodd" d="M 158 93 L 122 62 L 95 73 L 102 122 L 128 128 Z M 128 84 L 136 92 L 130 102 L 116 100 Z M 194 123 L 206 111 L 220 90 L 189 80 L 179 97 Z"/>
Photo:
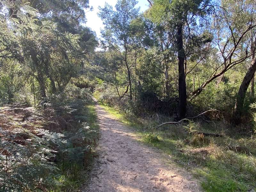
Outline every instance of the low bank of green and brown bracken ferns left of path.
<path id="1" fill-rule="evenodd" d="M 68 85 L 37 108 L 0 110 L 0 191 L 75 191 L 86 181 L 98 138 L 92 95 Z"/>

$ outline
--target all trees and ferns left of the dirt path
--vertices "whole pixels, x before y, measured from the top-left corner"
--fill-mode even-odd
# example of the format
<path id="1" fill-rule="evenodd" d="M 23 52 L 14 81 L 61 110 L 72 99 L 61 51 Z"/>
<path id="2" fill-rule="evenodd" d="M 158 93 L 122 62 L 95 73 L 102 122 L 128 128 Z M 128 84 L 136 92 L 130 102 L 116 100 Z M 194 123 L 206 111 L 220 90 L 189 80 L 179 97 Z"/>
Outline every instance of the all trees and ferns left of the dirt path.
<path id="1" fill-rule="evenodd" d="M 98 125 L 84 63 L 88 1 L 0 1 L 0 191 L 77 191 Z M 72 14 L 71 14 L 72 13 Z"/>

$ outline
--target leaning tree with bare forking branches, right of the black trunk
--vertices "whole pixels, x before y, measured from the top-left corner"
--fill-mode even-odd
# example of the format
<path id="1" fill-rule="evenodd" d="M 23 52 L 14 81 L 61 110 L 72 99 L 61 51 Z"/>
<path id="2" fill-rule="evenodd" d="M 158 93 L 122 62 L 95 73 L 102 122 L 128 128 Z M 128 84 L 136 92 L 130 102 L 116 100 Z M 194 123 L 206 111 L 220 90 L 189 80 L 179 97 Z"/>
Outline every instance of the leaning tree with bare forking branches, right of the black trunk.
<path id="1" fill-rule="evenodd" d="M 252 18 L 253 10 L 244 9 L 246 5 L 244 1 L 234 3 L 226 0 L 221 1 L 221 3 L 214 8 L 214 17 L 212 25 L 210 25 L 210 31 L 213 35 L 212 47 L 218 48 L 220 62 L 213 67 L 207 80 L 191 93 L 190 99 L 198 96 L 209 83 L 251 56 L 245 51 L 244 46 L 247 46 L 247 36 L 255 28 L 253 20 L 248 19 Z M 231 7 L 236 7 L 236 11 L 232 10 Z M 241 51 L 241 47 L 244 51 Z"/>

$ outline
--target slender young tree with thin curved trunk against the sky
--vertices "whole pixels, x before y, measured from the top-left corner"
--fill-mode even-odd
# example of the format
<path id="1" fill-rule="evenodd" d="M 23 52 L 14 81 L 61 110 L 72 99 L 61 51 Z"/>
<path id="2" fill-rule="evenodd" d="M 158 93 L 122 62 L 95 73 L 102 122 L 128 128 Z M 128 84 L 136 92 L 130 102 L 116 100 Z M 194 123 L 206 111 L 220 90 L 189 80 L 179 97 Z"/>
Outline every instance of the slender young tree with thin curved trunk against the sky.
<path id="1" fill-rule="evenodd" d="M 130 88 L 130 100 L 132 100 L 132 77 L 131 63 L 129 62 L 129 52 L 131 52 L 133 44 L 130 32 L 131 22 L 136 19 L 139 14 L 139 8 L 135 8 L 136 0 L 118 0 L 116 10 L 109 4 L 100 7 L 99 17 L 105 25 L 101 31 L 104 38 L 104 44 L 108 49 L 115 50 L 124 61 L 128 76 L 128 85 Z"/>

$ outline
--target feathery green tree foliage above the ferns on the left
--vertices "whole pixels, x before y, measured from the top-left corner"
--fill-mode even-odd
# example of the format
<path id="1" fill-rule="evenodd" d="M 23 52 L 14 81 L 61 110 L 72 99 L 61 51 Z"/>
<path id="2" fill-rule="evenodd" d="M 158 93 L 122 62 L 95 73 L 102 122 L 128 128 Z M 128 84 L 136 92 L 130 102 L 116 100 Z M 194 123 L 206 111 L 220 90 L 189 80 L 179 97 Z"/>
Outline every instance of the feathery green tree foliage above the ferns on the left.
<path id="1" fill-rule="evenodd" d="M 87 1 L 55 1 L 55 8 L 52 3 L 38 3 L 1 3 L 1 103 L 17 102 L 14 95 L 22 97 L 28 87 L 34 105 L 47 95 L 63 91 L 97 44 L 94 34 L 79 23 L 85 19 L 83 7 L 88 8 Z M 72 6 L 65 10 L 67 4 Z M 79 15 L 77 19 L 75 15 Z M 68 23 L 66 30 L 61 26 L 64 20 Z M 9 80 L 3 75 L 7 71 Z"/>

